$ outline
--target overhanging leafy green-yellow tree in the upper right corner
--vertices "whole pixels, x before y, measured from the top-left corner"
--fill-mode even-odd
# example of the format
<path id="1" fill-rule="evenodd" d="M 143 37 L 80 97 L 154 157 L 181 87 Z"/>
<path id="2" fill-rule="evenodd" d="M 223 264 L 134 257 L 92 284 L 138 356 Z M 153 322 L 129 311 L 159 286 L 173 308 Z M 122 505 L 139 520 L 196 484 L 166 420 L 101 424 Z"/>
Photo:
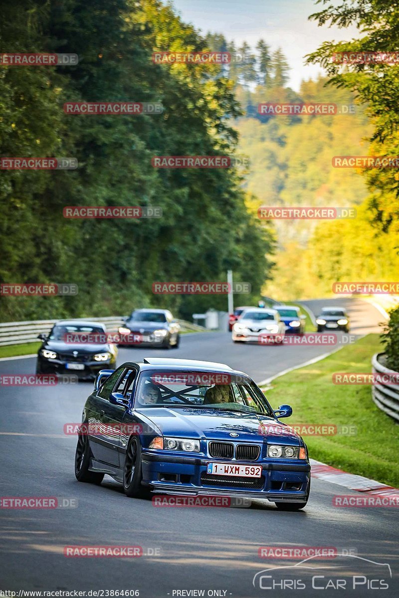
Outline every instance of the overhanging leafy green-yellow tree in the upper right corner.
<path id="1" fill-rule="evenodd" d="M 397 51 L 399 4 L 397 1 L 353 0 L 336 6 L 328 0 L 318 0 L 325 8 L 309 19 L 319 25 L 333 23 L 339 28 L 356 26 L 361 36 L 348 42 L 324 42 L 309 54 L 309 62 L 327 69 L 329 84 L 355 91 L 358 102 L 367 106 L 374 132 L 371 155 L 398 155 L 399 153 L 399 66 L 398 63 L 366 62 L 342 63 L 331 60 L 334 53 L 370 53 L 370 51 Z M 399 179 L 395 169 L 369 169 L 365 172 L 370 188 L 370 209 L 374 224 L 386 232 L 399 232 Z"/>

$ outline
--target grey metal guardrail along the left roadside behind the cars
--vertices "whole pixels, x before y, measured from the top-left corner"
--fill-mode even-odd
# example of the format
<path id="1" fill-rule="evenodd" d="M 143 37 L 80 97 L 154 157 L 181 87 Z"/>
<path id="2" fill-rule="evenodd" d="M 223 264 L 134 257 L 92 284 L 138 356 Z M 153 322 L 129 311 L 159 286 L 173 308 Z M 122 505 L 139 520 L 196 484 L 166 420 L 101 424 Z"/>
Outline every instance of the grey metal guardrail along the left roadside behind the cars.
<path id="1" fill-rule="evenodd" d="M 102 322 L 109 331 L 117 330 L 123 324 L 126 316 L 111 316 L 107 318 L 74 318 L 77 321 Z M 4 322 L 0 324 L 0 346 L 8 344 L 35 343 L 38 341 L 38 334 L 50 332 L 56 320 L 33 320 L 32 322 Z M 181 329 L 204 331 L 205 328 L 197 324 L 191 324 L 185 320 L 177 320 Z"/>

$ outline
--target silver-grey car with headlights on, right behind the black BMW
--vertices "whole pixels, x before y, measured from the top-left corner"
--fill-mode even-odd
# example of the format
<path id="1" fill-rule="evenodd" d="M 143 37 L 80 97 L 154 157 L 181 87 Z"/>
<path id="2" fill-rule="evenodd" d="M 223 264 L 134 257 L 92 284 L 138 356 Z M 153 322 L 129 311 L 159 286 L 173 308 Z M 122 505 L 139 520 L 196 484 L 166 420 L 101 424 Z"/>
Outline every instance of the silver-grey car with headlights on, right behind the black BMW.
<path id="1" fill-rule="evenodd" d="M 136 309 L 118 331 L 128 340 L 136 335 L 141 347 L 177 349 L 180 342 L 180 325 L 168 309 Z"/>

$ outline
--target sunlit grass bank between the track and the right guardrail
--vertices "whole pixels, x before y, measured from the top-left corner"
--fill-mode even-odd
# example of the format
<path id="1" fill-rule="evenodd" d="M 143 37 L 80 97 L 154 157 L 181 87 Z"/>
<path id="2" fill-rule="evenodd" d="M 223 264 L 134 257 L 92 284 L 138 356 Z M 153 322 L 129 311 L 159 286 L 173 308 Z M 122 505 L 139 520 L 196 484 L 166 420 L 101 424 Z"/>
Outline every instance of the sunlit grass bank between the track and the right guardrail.
<path id="1" fill-rule="evenodd" d="M 378 334 L 368 334 L 316 364 L 284 374 L 266 391 L 273 408 L 286 403 L 282 420 L 355 426 L 354 435 L 304 436 L 309 456 L 352 474 L 399 486 L 399 426 L 371 399 L 370 385 L 335 385 L 334 372 L 370 372 L 371 356 L 382 351 Z"/>

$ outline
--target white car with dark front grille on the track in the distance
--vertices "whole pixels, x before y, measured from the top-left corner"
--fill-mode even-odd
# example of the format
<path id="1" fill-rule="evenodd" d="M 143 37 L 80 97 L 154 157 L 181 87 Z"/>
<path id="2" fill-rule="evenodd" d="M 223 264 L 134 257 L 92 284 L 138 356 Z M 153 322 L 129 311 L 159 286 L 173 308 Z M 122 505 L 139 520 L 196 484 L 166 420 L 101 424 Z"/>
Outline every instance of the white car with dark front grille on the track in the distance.
<path id="1" fill-rule="evenodd" d="M 234 343 L 260 341 L 261 337 L 276 339 L 281 344 L 285 332 L 285 324 L 276 309 L 267 307 L 250 307 L 242 312 L 233 325 L 232 339 Z"/>

